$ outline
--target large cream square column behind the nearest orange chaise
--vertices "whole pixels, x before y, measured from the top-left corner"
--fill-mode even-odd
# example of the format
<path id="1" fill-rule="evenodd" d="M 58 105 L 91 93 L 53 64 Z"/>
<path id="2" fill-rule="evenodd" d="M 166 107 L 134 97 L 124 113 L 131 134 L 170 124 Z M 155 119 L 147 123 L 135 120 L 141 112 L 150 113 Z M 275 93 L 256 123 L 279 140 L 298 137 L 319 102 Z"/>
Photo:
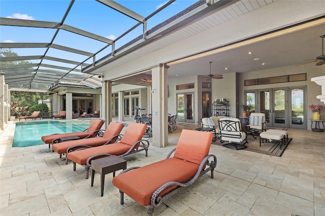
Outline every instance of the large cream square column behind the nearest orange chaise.
<path id="1" fill-rule="evenodd" d="M 152 146 L 168 146 L 168 71 L 159 64 L 152 68 Z"/>

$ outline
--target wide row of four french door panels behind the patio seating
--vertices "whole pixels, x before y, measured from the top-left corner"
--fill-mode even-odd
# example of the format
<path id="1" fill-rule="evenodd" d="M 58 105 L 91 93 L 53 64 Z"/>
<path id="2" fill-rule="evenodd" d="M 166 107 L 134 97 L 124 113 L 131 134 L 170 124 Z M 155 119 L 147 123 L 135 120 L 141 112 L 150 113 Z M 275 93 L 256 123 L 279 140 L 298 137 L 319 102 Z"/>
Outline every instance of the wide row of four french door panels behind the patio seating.
<path id="1" fill-rule="evenodd" d="M 245 91 L 252 112 L 265 113 L 267 126 L 307 129 L 306 87 Z M 256 97 L 257 96 L 257 97 Z"/>

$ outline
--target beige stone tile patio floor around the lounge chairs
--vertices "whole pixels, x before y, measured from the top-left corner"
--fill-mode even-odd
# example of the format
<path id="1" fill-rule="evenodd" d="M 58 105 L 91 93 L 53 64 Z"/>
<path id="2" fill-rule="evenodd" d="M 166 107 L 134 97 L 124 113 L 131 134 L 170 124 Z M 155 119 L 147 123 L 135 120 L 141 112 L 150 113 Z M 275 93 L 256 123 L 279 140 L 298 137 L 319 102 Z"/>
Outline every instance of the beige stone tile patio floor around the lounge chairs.
<path id="1" fill-rule="evenodd" d="M 12 148 L 15 124 L 0 131 L 1 207 L 5 215 L 146 215 L 145 207 L 119 192 L 112 174 L 94 186 L 84 168 L 49 152 L 47 145 Z M 127 167 L 166 158 L 175 148 L 182 128 L 169 134 L 166 148 L 150 146 L 125 157 Z M 217 156 L 214 178 L 208 174 L 155 208 L 154 215 L 325 215 L 325 132 L 289 129 L 293 137 L 282 157 L 235 151 L 212 145 Z M 149 139 L 152 141 L 152 139 Z M 145 183 L 144 183 L 145 184 Z"/>

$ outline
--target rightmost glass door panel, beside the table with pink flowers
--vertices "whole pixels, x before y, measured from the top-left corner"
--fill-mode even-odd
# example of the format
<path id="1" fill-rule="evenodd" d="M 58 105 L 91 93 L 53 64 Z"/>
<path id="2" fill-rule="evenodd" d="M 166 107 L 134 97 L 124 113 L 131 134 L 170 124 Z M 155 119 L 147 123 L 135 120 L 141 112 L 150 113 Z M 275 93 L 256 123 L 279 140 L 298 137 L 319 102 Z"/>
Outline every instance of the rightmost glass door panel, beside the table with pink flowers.
<path id="1" fill-rule="evenodd" d="M 290 128 L 306 128 L 306 122 L 304 119 L 306 119 L 306 110 L 305 110 L 305 93 L 306 88 L 290 88 L 290 110 L 291 110 L 291 116 L 290 116 L 290 122 L 289 127 Z"/>

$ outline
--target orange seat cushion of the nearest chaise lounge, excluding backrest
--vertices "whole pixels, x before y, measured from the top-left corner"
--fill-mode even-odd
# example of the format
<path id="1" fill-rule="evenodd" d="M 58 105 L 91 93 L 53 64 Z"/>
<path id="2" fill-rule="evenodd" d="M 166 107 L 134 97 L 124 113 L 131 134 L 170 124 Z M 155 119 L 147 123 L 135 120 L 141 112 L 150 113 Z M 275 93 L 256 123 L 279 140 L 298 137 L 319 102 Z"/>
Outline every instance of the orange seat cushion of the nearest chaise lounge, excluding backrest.
<path id="1" fill-rule="evenodd" d="M 146 206 L 150 203 L 152 193 L 161 185 L 173 181 L 185 183 L 196 174 L 198 168 L 199 165 L 197 164 L 176 158 L 168 158 L 119 174 L 113 178 L 113 185 L 139 204 Z M 166 173 L 168 173 L 168 175 Z M 176 186 L 171 186 L 165 189 L 160 193 L 160 196 L 166 194 L 175 187 Z"/>

